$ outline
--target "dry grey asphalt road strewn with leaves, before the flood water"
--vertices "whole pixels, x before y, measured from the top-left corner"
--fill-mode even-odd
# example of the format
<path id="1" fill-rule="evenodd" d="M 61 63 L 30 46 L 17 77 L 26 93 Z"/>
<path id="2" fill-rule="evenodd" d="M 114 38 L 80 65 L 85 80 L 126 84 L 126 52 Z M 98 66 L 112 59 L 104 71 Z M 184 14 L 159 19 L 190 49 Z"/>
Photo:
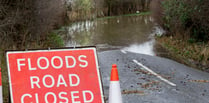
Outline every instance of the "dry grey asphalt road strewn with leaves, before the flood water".
<path id="1" fill-rule="evenodd" d="M 123 103 L 209 103 L 209 73 L 120 50 L 99 52 L 98 58 L 106 100 L 111 66 L 117 64 Z"/>

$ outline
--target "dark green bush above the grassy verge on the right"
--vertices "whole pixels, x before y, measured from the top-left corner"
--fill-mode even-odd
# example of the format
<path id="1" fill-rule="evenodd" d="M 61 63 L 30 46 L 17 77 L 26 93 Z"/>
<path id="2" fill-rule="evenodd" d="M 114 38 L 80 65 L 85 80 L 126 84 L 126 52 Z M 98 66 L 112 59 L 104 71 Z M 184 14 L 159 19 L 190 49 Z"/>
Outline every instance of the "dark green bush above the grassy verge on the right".
<path id="1" fill-rule="evenodd" d="M 209 40 L 209 0 L 156 1 L 160 2 L 157 5 L 162 7 L 163 14 L 156 20 L 165 30 L 183 39 Z M 153 1 L 154 4 L 157 3 L 156 1 Z M 156 10 L 153 12 L 156 13 Z"/>

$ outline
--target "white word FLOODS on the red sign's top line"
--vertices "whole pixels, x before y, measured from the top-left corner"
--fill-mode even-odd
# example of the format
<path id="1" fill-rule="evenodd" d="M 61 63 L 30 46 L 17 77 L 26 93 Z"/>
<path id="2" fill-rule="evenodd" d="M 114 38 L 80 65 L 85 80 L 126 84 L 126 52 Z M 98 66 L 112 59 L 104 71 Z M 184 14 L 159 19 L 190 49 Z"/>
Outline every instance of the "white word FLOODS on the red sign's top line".
<path id="1" fill-rule="evenodd" d="M 59 56 L 54 56 L 51 58 L 51 60 L 49 60 L 47 57 L 39 57 L 37 61 L 32 61 L 31 58 L 21 58 L 21 59 L 17 59 L 17 66 L 18 66 L 18 71 L 22 70 L 21 67 L 26 66 L 26 62 L 28 64 L 27 65 L 28 70 L 37 70 L 37 68 L 44 70 L 44 69 L 48 69 L 50 65 L 54 69 L 61 69 L 63 68 L 63 66 L 65 66 L 65 68 L 74 68 L 77 65 L 77 63 L 79 63 L 78 65 L 81 68 L 85 68 L 88 66 L 88 61 L 86 61 L 85 58 L 86 58 L 85 55 L 80 55 L 77 59 L 73 56 L 65 56 L 64 60 Z M 37 65 L 32 66 L 31 62 L 35 62 Z M 45 65 L 41 65 L 43 62 Z M 59 64 L 55 65 L 55 62 L 59 62 Z M 66 65 L 64 65 L 63 62 L 65 62 Z"/>

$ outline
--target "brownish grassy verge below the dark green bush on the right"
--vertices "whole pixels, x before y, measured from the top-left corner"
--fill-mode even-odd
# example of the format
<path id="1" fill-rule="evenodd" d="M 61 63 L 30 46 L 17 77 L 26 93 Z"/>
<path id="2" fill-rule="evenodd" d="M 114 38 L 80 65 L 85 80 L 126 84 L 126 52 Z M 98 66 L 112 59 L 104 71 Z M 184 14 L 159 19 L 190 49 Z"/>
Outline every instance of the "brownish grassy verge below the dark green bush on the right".
<path id="1" fill-rule="evenodd" d="M 171 55 L 171 59 L 209 72 L 209 43 L 191 42 L 177 37 L 157 37 L 156 41 Z"/>

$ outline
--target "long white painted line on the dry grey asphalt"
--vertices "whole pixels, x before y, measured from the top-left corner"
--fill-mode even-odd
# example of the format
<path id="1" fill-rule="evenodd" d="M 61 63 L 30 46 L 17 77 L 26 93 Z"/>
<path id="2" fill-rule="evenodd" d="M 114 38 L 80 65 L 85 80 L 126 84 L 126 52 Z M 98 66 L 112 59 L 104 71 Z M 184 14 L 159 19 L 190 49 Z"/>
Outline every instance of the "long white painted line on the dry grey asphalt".
<path id="1" fill-rule="evenodd" d="M 167 79 L 161 77 L 159 74 L 155 73 L 154 71 L 152 71 L 151 69 L 149 69 L 148 67 L 146 67 L 145 65 L 141 64 L 140 62 L 138 62 L 137 60 L 133 60 L 134 63 L 136 63 L 137 65 L 143 67 L 144 69 L 146 69 L 148 72 L 150 72 L 151 74 L 155 75 L 157 78 L 159 78 L 160 80 L 164 81 L 165 83 L 171 85 L 171 86 L 176 86 L 176 84 L 168 81 Z"/>

